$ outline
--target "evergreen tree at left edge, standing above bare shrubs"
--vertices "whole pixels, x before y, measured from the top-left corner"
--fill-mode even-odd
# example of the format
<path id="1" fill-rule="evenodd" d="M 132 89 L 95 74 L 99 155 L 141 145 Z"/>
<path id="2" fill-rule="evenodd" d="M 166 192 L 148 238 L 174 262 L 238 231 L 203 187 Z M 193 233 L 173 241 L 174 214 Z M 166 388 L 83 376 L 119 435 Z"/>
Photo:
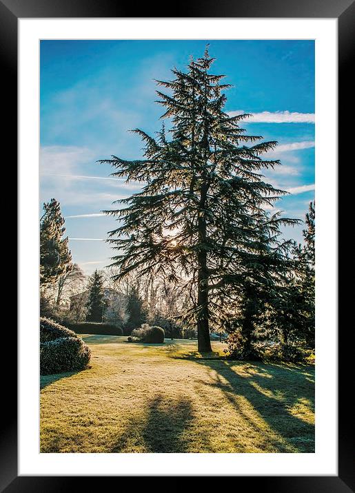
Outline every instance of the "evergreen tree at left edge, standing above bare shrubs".
<path id="1" fill-rule="evenodd" d="M 72 256 L 68 249 L 64 218 L 59 202 L 52 198 L 43 204 L 44 214 L 40 222 L 40 280 L 41 286 L 48 287 L 61 275 L 72 269 Z"/>

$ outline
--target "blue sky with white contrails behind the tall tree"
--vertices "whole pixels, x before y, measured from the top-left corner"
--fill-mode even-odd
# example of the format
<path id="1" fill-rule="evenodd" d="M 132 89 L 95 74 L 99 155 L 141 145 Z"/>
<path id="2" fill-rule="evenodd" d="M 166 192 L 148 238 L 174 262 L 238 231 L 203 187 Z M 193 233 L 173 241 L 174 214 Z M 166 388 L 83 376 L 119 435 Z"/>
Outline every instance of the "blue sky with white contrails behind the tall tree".
<path id="1" fill-rule="evenodd" d="M 137 191 L 96 161 L 141 157 L 141 140 L 128 130 L 160 129 L 154 79 L 170 79 L 170 69 L 201 56 L 207 42 L 41 41 L 40 207 L 59 200 L 72 258 L 86 273 L 112 255 L 102 239 L 115 221 L 101 210 Z M 225 110 L 252 113 L 247 132 L 278 140 L 272 156 L 283 165 L 265 176 L 292 194 L 276 209 L 304 218 L 314 200 L 314 41 L 214 40 L 210 54 L 214 73 L 234 85 Z M 285 235 L 301 241 L 301 230 Z"/>

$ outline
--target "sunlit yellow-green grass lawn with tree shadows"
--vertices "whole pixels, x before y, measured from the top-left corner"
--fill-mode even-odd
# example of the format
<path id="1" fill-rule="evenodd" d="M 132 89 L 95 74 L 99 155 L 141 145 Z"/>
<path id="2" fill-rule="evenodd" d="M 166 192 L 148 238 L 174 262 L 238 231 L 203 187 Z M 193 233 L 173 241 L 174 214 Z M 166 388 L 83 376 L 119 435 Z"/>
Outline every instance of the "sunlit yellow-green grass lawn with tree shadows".
<path id="1" fill-rule="evenodd" d="M 41 452 L 314 452 L 312 366 L 81 337 L 91 368 L 41 377 Z"/>

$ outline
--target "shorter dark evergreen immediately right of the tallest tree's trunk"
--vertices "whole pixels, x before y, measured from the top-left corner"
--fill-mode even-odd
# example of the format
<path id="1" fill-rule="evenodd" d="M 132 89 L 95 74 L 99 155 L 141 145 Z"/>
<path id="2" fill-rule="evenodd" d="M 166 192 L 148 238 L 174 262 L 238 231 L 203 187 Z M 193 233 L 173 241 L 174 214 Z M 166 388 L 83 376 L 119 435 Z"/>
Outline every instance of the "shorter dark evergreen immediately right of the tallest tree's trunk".
<path id="1" fill-rule="evenodd" d="M 236 262 L 229 266 L 230 274 L 225 275 L 225 289 L 221 298 L 225 304 L 229 302 L 230 311 L 224 322 L 230 333 L 228 342 L 231 353 L 238 359 L 256 357 L 252 343 L 261 337 L 262 332 L 265 338 L 267 324 L 274 325 L 274 315 L 288 289 L 294 266 L 290 258 L 294 242 L 281 240 L 279 227 L 280 224 L 295 224 L 298 221 L 281 219 L 279 216 L 279 213 L 271 217 L 265 211 L 258 213 L 254 218 L 254 227 L 247 233 L 250 235 L 247 248 L 235 256 Z M 234 309 L 234 316 L 231 309 Z M 286 322 L 289 321 L 286 317 L 284 321 L 283 334 L 287 337 Z M 264 331 L 260 330 L 261 327 Z"/>

